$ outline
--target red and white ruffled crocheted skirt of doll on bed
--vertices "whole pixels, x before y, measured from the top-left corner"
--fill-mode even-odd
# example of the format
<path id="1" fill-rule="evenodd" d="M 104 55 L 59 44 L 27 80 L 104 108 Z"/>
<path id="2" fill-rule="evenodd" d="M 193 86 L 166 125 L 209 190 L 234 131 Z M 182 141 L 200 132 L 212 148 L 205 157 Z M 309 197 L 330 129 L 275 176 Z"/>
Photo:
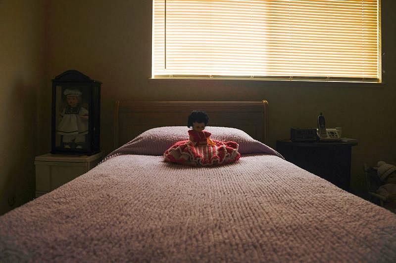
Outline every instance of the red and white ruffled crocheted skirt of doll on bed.
<path id="1" fill-rule="evenodd" d="M 180 141 L 163 154 L 165 161 L 193 166 L 211 166 L 237 161 L 241 154 L 236 142 L 212 140 L 216 145 L 194 146 L 191 141 Z"/>

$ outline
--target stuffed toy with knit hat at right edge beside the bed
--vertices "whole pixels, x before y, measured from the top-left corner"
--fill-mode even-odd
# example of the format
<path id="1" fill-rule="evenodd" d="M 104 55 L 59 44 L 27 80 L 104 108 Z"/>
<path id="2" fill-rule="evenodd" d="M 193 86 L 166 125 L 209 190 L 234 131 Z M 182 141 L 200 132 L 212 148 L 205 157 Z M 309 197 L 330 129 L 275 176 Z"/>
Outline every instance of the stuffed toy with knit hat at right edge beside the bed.
<path id="1" fill-rule="evenodd" d="M 376 193 L 386 198 L 388 202 L 396 202 L 396 166 L 384 161 L 378 162 L 377 174 L 384 185 Z"/>

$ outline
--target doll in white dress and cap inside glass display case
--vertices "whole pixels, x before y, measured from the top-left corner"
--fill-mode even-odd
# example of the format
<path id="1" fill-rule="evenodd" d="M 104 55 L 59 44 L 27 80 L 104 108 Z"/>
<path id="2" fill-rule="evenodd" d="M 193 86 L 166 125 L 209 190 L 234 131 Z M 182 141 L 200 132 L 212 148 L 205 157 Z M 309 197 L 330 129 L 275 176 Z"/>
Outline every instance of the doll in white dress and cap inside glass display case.
<path id="1" fill-rule="evenodd" d="M 88 134 L 88 110 L 81 106 L 81 91 L 65 89 L 66 107 L 60 113 L 61 121 L 56 133 L 62 135 L 63 147 L 82 149 Z"/>

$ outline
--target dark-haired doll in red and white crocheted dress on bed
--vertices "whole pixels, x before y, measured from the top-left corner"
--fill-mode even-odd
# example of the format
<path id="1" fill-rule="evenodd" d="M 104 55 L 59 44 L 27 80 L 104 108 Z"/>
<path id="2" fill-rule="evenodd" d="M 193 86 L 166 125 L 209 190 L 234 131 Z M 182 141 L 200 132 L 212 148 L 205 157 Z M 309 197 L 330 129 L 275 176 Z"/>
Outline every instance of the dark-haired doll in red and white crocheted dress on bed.
<path id="1" fill-rule="evenodd" d="M 211 140 L 211 133 L 205 131 L 209 117 L 205 112 L 193 111 L 187 121 L 190 140 L 172 145 L 163 154 L 165 161 L 194 166 L 221 165 L 237 161 L 241 154 L 236 142 Z"/>

